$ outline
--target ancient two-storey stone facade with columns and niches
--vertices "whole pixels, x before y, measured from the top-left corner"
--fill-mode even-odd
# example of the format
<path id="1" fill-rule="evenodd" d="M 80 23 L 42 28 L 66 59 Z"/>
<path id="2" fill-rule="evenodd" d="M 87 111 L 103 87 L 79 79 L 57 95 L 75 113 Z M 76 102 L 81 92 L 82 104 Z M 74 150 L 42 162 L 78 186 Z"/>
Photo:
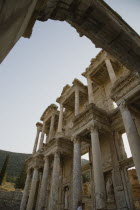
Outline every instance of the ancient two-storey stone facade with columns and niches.
<path id="1" fill-rule="evenodd" d="M 87 86 L 74 79 L 56 100 L 60 109 L 51 104 L 36 124 L 20 210 L 77 210 L 79 201 L 86 210 L 140 209 L 128 175 L 135 166 L 139 186 L 140 77 L 105 51 L 82 75 Z M 125 132 L 130 158 L 121 136 Z M 85 153 L 89 163 L 82 166 Z"/>

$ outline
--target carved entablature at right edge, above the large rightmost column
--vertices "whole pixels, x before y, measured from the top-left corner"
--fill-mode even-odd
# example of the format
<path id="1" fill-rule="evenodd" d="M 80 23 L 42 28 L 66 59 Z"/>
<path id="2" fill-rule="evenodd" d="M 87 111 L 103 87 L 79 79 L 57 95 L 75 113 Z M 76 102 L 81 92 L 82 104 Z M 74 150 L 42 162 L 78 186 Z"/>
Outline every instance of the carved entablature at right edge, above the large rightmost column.
<path id="1" fill-rule="evenodd" d="M 120 104 L 122 99 L 127 100 L 137 91 L 140 91 L 140 76 L 129 72 L 114 83 L 110 97 Z"/>

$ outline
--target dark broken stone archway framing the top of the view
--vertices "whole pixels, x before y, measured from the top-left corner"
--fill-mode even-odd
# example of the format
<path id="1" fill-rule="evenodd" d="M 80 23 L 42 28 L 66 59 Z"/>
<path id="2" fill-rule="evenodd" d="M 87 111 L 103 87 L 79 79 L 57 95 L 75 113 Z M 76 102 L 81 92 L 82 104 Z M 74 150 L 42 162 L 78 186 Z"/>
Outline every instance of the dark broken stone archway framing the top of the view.
<path id="1" fill-rule="evenodd" d="M 106 50 L 131 71 L 140 72 L 139 35 L 104 1 L 14 1 L 12 5 L 0 3 L 0 61 L 21 36 L 31 36 L 36 20 L 52 19 L 68 22 L 80 36 L 88 37 L 97 47 Z M 6 10 L 9 7 L 10 10 Z"/>

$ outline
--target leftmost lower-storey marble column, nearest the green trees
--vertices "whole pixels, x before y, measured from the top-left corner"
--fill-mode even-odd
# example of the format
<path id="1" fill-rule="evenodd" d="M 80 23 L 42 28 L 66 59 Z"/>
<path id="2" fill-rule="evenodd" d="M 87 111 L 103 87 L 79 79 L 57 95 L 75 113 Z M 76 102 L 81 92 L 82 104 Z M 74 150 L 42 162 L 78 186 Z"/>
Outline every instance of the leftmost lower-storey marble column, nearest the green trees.
<path id="1" fill-rule="evenodd" d="M 27 204 L 28 195 L 29 195 L 29 187 L 30 187 L 30 183 L 31 183 L 31 177 L 32 177 L 31 170 L 28 170 L 26 182 L 25 182 L 25 186 L 24 186 L 24 191 L 23 191 L 23 196 L 22 196 L 22 200 L 21 200 L 21 204 L 20 204 L 20 210 L 26 209 L 26 204 Z"/>

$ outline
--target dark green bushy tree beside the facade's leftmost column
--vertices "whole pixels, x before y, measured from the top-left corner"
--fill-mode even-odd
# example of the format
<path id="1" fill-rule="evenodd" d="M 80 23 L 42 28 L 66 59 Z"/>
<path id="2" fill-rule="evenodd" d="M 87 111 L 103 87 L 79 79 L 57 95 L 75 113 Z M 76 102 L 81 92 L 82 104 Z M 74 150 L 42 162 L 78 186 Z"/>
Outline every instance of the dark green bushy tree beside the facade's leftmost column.
<path id="1" fill-rule="evenodd" d="M 22 170 L 16 179 L 15 188 L 24 189 L 25 180 L 26 180 L 26 165 L 24 163 Z"/>

